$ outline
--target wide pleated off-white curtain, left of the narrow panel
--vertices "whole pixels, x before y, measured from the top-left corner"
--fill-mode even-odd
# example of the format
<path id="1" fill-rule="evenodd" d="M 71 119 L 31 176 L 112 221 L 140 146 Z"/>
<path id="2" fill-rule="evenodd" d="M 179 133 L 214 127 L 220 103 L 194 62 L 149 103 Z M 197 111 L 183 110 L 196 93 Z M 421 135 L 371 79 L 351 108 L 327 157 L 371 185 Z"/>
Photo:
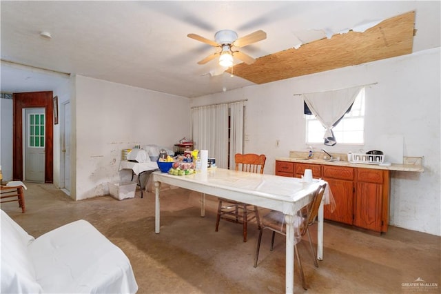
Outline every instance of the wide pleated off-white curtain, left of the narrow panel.
<path id="1" fill-rule="evenodd" d="M 192 109 L 192 137 L 195 148 L 208 150 L 216 166 L 228 166 L 228 105 L 218 104 Z"/>

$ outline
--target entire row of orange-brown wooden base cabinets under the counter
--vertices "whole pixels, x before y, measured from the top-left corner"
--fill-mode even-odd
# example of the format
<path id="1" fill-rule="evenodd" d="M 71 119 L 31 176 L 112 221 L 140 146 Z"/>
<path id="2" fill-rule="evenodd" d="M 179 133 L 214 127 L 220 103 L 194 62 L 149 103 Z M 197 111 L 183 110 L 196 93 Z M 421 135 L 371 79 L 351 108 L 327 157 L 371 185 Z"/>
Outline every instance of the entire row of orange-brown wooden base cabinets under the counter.
<path id="1" fill-rule="evenodd" d="M 389 170 L 276 161 L 276 175 L 301 177 L 307 168 L 314 178 L 325 179 L 336 201 L 334 211 L 325 206 L 325 219 L 371 231 L 387 231 Z"/>

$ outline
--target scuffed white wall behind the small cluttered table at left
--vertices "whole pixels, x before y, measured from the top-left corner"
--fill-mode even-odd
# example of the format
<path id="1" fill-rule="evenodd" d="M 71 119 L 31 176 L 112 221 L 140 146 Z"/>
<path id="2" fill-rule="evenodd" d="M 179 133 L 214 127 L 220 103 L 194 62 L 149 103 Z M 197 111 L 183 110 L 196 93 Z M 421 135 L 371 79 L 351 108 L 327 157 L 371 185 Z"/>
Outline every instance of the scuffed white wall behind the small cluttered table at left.
<path id="1" fill-rule="evenodd" d="M 76 76 L 74 84 L 74 199 L 108 194 L 108 183 L 123 177 L 121 150 L 136 144 L 173 150 L 179 139 L 189 137 L 189 99 L 185 97 L 82 76 Z"/>

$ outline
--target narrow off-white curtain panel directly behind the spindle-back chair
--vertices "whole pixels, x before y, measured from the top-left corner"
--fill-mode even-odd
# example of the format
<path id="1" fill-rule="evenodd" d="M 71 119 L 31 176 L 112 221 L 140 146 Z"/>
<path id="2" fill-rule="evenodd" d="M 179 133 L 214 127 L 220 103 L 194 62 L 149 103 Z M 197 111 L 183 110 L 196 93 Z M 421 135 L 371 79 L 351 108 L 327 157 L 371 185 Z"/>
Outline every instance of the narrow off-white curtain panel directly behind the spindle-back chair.
<path id="1" fill-rule="evenodd" d="M 234 155 L 243 153 L 243 117 L 245 104 L 243 101 L 229 105 L 230 133 L 229 133 L 229 168 L 234 169 Z"/>

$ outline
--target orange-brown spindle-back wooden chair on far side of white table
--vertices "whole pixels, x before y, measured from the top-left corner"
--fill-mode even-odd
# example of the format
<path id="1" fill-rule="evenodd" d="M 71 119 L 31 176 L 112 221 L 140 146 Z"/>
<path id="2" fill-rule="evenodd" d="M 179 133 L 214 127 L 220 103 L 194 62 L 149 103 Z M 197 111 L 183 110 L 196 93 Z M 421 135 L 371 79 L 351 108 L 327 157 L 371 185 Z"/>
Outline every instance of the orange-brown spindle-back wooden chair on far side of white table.
<path id="1" fill-rule="evenodd" d="M 242 170 L 248 173 L 261 173 L 263 174 L 263 168 L 265 168 L 265 161 L 267 157 L 265 155 L 257 155 L 253 153 L 249 154 L 236 154 L 234 161 L 236 163 L 236 170 Z M 256 219 L 258 228 L 259 214 L 257 206 L 249 205 L 246 203 L 235 202 L 229 199 L 218 198 L 218 213 L 216 217 L 216 232 L 219 228 L 220 219 L 225 219 L 229 222 L 243 224 L 243 242 L 247 242 L 247 225 L 252 219 Z"/>

